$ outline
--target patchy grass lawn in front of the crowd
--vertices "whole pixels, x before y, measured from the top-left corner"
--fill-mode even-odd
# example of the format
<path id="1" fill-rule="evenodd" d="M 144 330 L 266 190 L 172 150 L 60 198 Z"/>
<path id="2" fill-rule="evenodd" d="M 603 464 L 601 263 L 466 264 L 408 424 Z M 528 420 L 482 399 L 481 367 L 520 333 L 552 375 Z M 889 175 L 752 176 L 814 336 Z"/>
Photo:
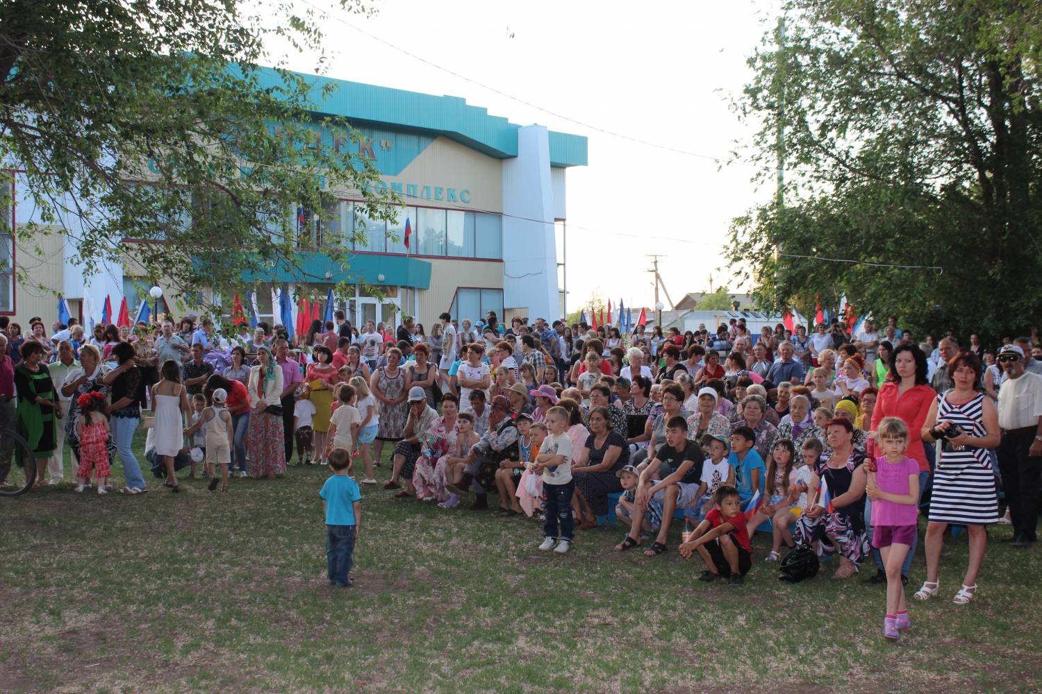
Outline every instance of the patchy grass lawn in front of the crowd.
<path id="1" fill-rule="evenodd" d="M 143 440 L 143 439 L 142 439 Z M 379 468 L 386 478 L 388 466 Z M 122 470 L 114 468 L 114 480 Z M 0 499 L 2 692 L 1039 691 L 1039 549 L 992 532 L 979 597 L 951 605 L 966 535 L 945 547 L 941 599 L 880 632 L 884 590 L 789 586 L 753 540 L 742 587 L 695 581 L 675 551 L 611 551 L 619 526 L 539 552 L 531 519 L 443 511 L 363 490 L 356 585 L 325 579 L 327 471 L 199 480 L 180 494 Z M 150 480 L 151 484 L 151 480 Z M 493 497 L 494 498 L 494 497 Z M 867 569 L 866 569 L 867 570 Z M 922 550 L 910 593 L 924 574 Z M 866 574 L 863 574 L 863 576 Z M 910 595 L 911 597 L 911 595 Z"/>

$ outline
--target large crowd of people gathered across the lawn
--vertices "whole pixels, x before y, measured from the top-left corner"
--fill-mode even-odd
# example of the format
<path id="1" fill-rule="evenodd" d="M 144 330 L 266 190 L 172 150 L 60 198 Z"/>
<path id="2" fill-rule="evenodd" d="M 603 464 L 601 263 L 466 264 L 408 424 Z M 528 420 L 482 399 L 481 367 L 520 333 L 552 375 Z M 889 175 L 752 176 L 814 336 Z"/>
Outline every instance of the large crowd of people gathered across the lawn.
<path id="1" fill-rule="evenodd" d="M 741 583 L 749 538 L 764 531 L 767 563 L 810 546 L 835 558 L 836 579 L 874 565 L 867 581 L 890 586 L 892 638 L 908 623 L 899 587 L 920 505 L 919 599 L 940 590 L 951 524 L 970 543 L 957 603 L 976 594 L 989 524 L 1012 524 L 1014 547 L 1035 543 L 1037 332 L 989 350 L 953 331 L 916 342 L 894 317 L 855 334 L 840 322 L 811 334 L 783 325 L 753 334 L 734 318 L 713 328 L 623 335 L 443 313 L 429 333 L 408 318 L 392 332 L 337 312 L 291 340 L 281 326 L 221 334 L 196 316 L 90 336 L 74 322 L 48 336 L 39 320 L 23 335 L 0 317 L 0 429 L 25 434 L 36 484 L 61 483 L 68 444 L 77 491 L 93 479 L 98 493 L 111 489 L 116 457 L 123 491 L 148 489 L 131 449 L 144 412 L 146 457 L 173 491 L 178 471 L 194 477 L 200 464 L 212 490 L 228 489 L 237 471 L 270 479 L 329 463 L 343 475 L 354 461 L 361 484 L 376 485 L 390 446 L 383 489 L 445 509 L 467 498 L 474 511 L 495 494 L 497 514 L 543 522 L 543 550 L 568 551 L 576 532 L 614 514 L 628 525 L 616 549 L 649 542 L 654 557 L 683 517 L 679 551 L 702 559 L 705 581 Z M 0 484 L 6 474 L 0 467 Z"/>

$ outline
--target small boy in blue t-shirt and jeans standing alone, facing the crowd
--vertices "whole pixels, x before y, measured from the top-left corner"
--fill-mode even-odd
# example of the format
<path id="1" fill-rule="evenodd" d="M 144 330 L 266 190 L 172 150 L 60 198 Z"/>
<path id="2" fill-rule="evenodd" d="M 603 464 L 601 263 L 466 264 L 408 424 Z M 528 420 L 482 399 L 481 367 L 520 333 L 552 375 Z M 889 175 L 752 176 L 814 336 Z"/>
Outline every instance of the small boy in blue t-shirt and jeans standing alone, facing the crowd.
<path id="1" fill-rule="evenodd" d="M 322 485 L 319 496 L 326 516 L 326 562 L 329 585 L 347 588 L 351 585 L 351 559 L 358 539 L 358 518 L 362 515 L 362 492 L 351 477 L 351 454 L 346 448 L 329 453 L 332 477 Z"/>

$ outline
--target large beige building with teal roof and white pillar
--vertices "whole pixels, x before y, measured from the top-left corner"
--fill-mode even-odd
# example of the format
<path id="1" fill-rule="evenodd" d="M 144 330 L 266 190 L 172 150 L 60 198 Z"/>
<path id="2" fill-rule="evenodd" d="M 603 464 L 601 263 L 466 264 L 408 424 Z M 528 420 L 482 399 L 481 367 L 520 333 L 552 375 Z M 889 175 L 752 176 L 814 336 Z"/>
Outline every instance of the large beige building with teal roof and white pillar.
<path id="1" fill-rule="evenodd" d="M 269 71 L 266 79 L 274 83 L 279 78 Z M 359 219 L 350 196 L 326 210 L 327 224 L 339 225 L 338 231 L 365 225 L 365 238 L 353 245 L 346 274 L 329 273 L 331 263 L 323 265 L 321 253 L 306 254 L 306 263 L 316 265 L 307 268 L 309 276 L 354 284 L 354 295 L 338 302 L 349 318 L 396 323 L 408 314 L 429 326 L 443 311 L 472 319 L 490 310 L 500 317 L 562 314 L 555 229 L 567 216 L 566 170 L 587 163 L 586 137 L 519 126 L 456 97 L 308 79 L 314 101 L 321 104 L 316 120 L 346 117 L 364 135 L 359 153 L 373 160 L 387 186 L 407 203 L 389 224 Z M 327 84 L 332 92 L 323 97 Z M 153 283 L 164 289 L 175 315 L 194 308 L 190 299 L 172 295 L 162 278 L 126 274 L 124 266 L 133 266 L 129 258 L 107 263 L 84 281 L 76 249 L 63 235 L 16 241 L 11 225 L 40 220 L 17 173 L 14 186 L 14 208 L 4 210 L 2 232 L 7 233 L 0 233 L 0 315 L 13 316 L 23 329 L 39 315 L 49 327 L 57 317 L 56 295 L 63 294 L 74 316 L 91 313 L 98 319 L 106 295 L 114 312 L 126 297 L 133 316 L 143 289 Z M 413 229 L 408 249 L 403 242 L 406 220 Z M 19 282 L 16 266 L 31 280 Z M 258 313 L 260 319 L 278 323 L 272 289 L 293 292 L 301 287 L 288 275 L 267 279 L 257 286 Z M 367 290 L 367 284 L 379 287 L 382 297 Z M 326 288 L 305 289 L 324 297 Z"/>

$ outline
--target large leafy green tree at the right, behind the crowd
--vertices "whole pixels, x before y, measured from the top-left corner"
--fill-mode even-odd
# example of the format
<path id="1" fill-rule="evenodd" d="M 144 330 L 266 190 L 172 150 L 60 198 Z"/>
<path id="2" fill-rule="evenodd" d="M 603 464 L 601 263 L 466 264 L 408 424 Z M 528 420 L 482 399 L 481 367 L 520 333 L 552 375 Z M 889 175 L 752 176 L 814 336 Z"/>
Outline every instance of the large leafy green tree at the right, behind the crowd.
<path id="1" fill-rule="evenodd" d="M 1042 309 L 1042 8 L 789 0 L 737 104 L 783 206 L 734 221 L 758 304 L 896 314 L 919 332 L 1026 329 Z M 778 133 L 784 134 L 779 137 Z"/>

